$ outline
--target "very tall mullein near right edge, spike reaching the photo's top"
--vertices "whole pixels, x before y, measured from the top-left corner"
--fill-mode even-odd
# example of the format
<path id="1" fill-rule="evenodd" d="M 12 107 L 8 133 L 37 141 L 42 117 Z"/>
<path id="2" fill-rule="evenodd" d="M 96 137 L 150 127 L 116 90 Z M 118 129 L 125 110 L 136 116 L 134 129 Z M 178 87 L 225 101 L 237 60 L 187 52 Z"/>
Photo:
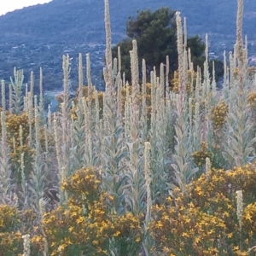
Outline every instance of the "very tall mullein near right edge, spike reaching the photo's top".
<path id="1" fill-rule="evenodd" d="M 234 55 L 230 56 L 232 66 L 238 68 L 237 79 L 230 84 L 230 112 L 228 113 L 225 135 L 227 140 L 224 142 L 223 156 L 227 160 L 227 168 L 234 166 L 244 166 L 252 162 L 255 157 L 253 144 L 256 137 L 253 137 L 252 113 L 247 102 L 248 93 L 252 90 L 253 83 L 248 79 L 247 73 L 247 45 L 243 48 L 241 38 L 242 27 L 242 1 L 238 1 L 237 21 L 236 21 L 236 44 Z M 238 66 L 236 67 L 236 63 Z M 235 69 L 230 70 L 234 73 Z M 238 95 L 238 96 L 237 96 Z"/>

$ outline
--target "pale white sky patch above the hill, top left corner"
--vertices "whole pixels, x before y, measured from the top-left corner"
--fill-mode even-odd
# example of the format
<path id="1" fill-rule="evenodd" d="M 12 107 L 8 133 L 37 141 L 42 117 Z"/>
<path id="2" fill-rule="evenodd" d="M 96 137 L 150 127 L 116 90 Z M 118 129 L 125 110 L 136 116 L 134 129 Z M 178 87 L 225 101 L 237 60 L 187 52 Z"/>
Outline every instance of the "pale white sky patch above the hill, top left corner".
<path id="1" fill-rule="evenodd" d="M 35 5 L 38 3 L 49 3 L 51 0 L 0 0 L 0 15 L 5 15 L 15 9 Z"/>

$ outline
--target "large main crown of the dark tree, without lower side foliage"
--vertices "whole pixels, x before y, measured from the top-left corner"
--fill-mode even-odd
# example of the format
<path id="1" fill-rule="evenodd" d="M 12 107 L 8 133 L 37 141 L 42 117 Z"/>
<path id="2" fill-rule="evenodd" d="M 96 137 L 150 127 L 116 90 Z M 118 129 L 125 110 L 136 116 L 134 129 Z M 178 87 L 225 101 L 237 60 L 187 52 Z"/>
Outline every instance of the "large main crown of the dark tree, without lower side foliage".
<path id="1" fill-rule="evenodd" d="M 160 63 L 170 55 L 170 66 L 177 69 L 177 30 L 175 11 L 168 8 L 151 12 L 149 9 L 138 13 L 137 17 L 129 17 L 126 23 L 129 38 L 137 40 L 140 59 L 145 59 L 150 70 L 155 66 L 159 70 Z"/>

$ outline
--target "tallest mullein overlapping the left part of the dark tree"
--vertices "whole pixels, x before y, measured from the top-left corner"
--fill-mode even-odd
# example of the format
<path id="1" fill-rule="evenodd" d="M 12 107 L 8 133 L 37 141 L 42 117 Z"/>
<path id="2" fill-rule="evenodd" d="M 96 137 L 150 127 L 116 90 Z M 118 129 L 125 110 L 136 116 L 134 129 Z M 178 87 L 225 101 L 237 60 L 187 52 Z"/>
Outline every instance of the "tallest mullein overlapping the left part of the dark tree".
<path id="1" fill-rule="evenodd" d="M 138 62 L 137 42 L 133 40 L 131 51 L 131 98 L 126 108 L 129 108 L 130 119 L 129 135 L 126 137 L 128 156 L 125 161 L 125 177 L 127 177 L 127 189 L 125 189 L 125 201 L 129 211 L 138 216 L 145 210 L 145 182 L 143 178 L 143 142 L 139 134 L 139 103 L 138 103 Z"/>

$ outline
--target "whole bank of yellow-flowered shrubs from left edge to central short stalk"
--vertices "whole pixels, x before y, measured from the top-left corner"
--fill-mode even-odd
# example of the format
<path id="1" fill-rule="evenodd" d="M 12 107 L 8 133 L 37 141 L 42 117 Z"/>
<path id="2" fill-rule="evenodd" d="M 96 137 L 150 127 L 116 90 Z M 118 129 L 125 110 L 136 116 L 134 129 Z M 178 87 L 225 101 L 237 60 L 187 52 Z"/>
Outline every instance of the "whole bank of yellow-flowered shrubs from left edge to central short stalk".
<path id="1" fill-rule="evenodd" d="M 100 185 L 96 168 L 79 170 L 62 183 L 70 195 L 67 204 L 44 213 L 41 224 L 32 210 L 21 212 L 1 205 L 0 256 L 23 255 L 24 234 L 30 234 L 35 256 L 43 255 L 45 245 L 49 255 L 108 255 L 110 243 L 118 255 L 138 255 L 143 217 L 113 211 L 115 197 L 102 192 Z"/>

